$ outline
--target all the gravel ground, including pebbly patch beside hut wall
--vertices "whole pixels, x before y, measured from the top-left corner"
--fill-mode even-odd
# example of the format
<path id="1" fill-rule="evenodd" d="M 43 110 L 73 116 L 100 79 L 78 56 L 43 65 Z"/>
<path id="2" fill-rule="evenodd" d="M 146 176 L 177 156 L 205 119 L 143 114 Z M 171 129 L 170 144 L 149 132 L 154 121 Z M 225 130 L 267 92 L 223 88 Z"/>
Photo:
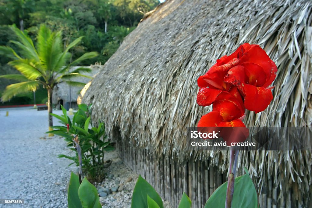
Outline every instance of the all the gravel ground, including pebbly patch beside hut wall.
<path id="1" fill-rule="evenodd" d="M 6 117 L 6 111 L 9 116 Z M 53 113 L 61 115 L 61 110 Z M 53 118 L 54 119 L 54 118 Z M 57 125 L 57 119 L 53 121 Z M 0 109 L 0 199 L 24 199 L 23 205 L 2 207 L 67 207 L 67 185 L 71 171 L 70 160 L 57 158 L 59 154 L 74 156 L 59 136 L 47 137 L 47 111 L 32 108 Z M 118 191 L 100 197 L 102 207 L 130 208 L 138 175 L 130 171 L 116 151 L 105 153 L 112 160 L 106 169 L 105 181 L 96 183 L 100 189 Z M 166 208 L 172 208 L 164 201 Z"/>

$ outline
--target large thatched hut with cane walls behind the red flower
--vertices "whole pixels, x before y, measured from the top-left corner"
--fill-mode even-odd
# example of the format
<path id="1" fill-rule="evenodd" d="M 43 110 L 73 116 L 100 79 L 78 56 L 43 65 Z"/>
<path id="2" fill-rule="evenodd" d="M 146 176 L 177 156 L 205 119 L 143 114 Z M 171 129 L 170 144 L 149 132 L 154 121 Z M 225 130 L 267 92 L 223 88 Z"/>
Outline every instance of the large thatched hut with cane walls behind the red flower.
<path id="1" fill-rule="evenodd" d="M 249 42 L 278 67 L 274 100 L 246 126 L 311 126 L 312 2 L 168 0 L 149 13 L 83 89 L 93 116 L 106 122 L 124 163 L 163 198 L 193 207 L 227 178 L 226 151 L 188 152 L 185 133 L 207 107 L 196 104 L 197 78 L 217 58 Z M 245 151 L 261 207 L 312 207 L 310 151 Z"/>

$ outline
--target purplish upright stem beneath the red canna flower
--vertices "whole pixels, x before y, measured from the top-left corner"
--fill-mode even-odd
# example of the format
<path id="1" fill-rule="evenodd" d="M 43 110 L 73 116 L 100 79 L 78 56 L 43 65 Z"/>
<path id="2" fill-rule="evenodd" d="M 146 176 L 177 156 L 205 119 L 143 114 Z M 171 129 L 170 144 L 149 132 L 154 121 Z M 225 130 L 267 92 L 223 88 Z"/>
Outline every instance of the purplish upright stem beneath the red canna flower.
<path id="1" fill-rule="evenodd" d="M 230 165 L 229 165 L 229 176 L 227 177 L 227 196 L 225 199 L 225 208 L 231 208 L 232 199 L 234 194 L 234 181 L 235 181 L 235 173 L 237 166 L 237 156 L 238 150 L 233 150 L 231 147 L 230 150 Z"/>

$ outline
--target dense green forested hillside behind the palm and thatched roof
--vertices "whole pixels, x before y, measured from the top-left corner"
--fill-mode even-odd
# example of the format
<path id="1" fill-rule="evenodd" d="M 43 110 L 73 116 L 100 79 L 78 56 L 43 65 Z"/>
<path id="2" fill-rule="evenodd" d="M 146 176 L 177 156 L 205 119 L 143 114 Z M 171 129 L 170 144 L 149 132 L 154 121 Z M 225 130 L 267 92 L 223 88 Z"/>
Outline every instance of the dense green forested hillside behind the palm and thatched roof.
<path id="1" fill-rule="evenodd" d="M 158 4 L 158 0 L 3 0 L 0 1 L 0 31 L 1 27 L 15 24 L 36 41 L 40 25 L 44 24 L 52 31 L 62 31 L 64 48 L 84 36 L 71 49 L 71 59 L 96 51 L 100 53 L 97 59 L 83 60 L 81 64 L 104 64 L 116 51 L 115 46 L 136 27 L 146 12 Z M 117 27 L 120 27 L 119 31 Z M 10 30 L 3 30 L 0 34 L 3 34 L 0 35 L 0 45 L 8 46 L 9 40 L 15 39 Z M 103 52 L 107 50 L 110 52 Z M 0 59 L 1 65 L 5 63 L 7 61 Z"/>

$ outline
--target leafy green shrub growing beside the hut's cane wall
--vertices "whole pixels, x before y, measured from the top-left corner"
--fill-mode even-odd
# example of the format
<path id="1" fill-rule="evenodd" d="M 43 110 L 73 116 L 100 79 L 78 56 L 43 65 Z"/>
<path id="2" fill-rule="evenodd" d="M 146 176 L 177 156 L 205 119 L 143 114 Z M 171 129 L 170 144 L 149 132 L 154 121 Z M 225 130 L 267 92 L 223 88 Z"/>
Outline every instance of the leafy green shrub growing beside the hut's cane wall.
<path id="1" fill-rule="evenodd" d="M 59 157 L 65 157 L 73 161 L 71 164 L 79 166 L 78 153 L 73 147 L 73 136 L 77 135 L 79 138 L 79 144 L 81 147 L 82 155 L 82 168 L 83 172 L 86 173 L 87 177 L 91 181 L 101 181 L 104 179 L 105 172 L 105 161 L 104 152 L 114 150 L 110 145 L 110 141 L 105 134 L 104 122 L 98 122 L 98 126 L 93 126 L 91 122 L 91 105 L 85 104 L 78 105 L 79 109 L 74 114 L 73 118 L 67 115 L 66 109 L 61 106 L 63 115 L 51 114 L 63 126 L 53 126 L 53 130 L 47 133 L 54 133 L 64 137 L 71 150 L 75 152 L 76 156 L 71 157 L 67 155 L 59 155 Z M 69 130 L 67 131 L 67 124 L 69 124 Z"/>

